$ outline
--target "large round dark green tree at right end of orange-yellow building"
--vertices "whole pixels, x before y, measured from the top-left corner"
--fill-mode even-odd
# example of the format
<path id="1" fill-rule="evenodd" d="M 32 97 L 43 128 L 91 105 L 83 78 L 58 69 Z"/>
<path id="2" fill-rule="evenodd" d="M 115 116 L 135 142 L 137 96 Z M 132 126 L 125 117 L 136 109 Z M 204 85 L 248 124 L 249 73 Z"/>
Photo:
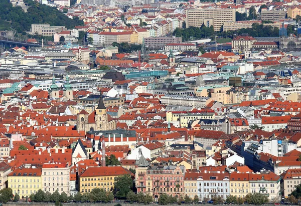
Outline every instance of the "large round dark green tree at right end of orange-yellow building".
<path id="1" fill-rule="evenodd" d="M 125 198 L 133 188 L 133 180 L 129 174 L 118 176 L 114 182 L 114 193 L 117 198 Z"/>

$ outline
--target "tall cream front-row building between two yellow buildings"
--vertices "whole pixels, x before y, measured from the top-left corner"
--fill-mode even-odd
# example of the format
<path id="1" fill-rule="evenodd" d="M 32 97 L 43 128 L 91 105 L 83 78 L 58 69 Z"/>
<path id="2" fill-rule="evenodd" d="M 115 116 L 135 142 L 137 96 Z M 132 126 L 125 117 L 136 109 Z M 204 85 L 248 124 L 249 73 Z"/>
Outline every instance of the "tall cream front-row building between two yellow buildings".
<path id="1" fill-rule="evenodd" d="M 53 193 L 58 191 L 70 194 L 70 167 L 64 163 L 43 164 L 42 167 L 42 190 Z"/>

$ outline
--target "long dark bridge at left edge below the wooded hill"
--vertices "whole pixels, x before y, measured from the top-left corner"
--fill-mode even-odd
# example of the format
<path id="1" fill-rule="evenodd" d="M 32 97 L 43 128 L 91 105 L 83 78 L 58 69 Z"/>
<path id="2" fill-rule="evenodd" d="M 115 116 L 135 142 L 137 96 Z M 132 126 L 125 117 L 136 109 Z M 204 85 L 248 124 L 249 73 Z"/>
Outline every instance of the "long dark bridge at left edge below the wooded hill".
<path id="1" fill-rule="evenodd" d="M 6 48 L 14 48 L 14 47 L 42 47 L 42 44 L 39 43 L 39 41 L 37 41 L 38 43 L 33 43 L 33 42 L 28 42 L 27 38 L 15 38 L 12 37 L 12 39 L 9 39 L 7 37 L 4 36 L 0 36 L 0 44 L 2 47 L 6 47 Z"/>

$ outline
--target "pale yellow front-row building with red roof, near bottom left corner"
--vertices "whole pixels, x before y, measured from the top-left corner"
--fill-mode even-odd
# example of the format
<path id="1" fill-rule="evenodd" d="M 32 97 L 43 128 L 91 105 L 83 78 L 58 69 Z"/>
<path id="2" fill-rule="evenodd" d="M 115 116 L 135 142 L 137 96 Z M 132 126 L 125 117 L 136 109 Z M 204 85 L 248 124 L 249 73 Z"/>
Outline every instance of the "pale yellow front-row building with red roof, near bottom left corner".
<path id="1" fill-rule="evenodd" d="M 13 194 L 18 193 L 20 198 L 29 197 L 42 189 L 42 169 L 18 168 L 8 175 L 9 187 Z"/>

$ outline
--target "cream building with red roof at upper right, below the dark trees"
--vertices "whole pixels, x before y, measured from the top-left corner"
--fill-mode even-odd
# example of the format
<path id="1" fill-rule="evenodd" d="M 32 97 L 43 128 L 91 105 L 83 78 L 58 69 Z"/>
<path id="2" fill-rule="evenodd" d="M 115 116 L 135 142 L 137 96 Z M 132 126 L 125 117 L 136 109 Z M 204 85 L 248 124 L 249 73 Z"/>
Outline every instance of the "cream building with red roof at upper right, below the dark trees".
<path id="1" fill-rule="evenodd" d="M 256 42 L 256 39 L 249 36 L 237 36 L 232 42 L 232 52 L 240 53 L 245 51 L 250 51 L 252 49 L 252 45 Z"/>

